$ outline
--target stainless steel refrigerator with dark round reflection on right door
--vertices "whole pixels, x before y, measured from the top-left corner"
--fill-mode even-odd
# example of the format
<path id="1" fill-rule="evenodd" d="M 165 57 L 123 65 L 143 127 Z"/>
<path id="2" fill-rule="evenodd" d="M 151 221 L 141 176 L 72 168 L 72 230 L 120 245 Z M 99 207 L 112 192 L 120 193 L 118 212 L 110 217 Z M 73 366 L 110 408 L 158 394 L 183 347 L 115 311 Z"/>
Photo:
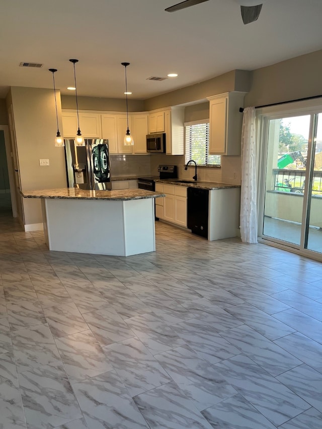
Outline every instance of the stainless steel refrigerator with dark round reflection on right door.
<path id="1" fill-rule="evenodd" d="M 68 188 L 112 189 L 108 140 L 85 139 L 85 146 L 76 146 L 74 139 L 64 142 Z"/>

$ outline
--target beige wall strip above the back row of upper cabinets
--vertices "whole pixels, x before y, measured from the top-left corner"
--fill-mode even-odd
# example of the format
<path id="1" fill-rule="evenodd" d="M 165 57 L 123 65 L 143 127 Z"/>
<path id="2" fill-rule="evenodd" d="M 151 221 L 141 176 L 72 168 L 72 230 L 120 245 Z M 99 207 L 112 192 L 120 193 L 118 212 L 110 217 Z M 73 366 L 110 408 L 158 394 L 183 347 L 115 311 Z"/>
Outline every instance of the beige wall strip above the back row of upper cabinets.
<path id="1" fill-rule="evenodd" d="M 110 112 L 126 112 L 125 99 L 108 99 L 98 97 L 77 97 L 79 110 L 106 110 Z M 76 109 L 75 96 L 61 96 L 62 109 Z M 129 112 L 143 112 L 142 100 L 128 100 Z"/>

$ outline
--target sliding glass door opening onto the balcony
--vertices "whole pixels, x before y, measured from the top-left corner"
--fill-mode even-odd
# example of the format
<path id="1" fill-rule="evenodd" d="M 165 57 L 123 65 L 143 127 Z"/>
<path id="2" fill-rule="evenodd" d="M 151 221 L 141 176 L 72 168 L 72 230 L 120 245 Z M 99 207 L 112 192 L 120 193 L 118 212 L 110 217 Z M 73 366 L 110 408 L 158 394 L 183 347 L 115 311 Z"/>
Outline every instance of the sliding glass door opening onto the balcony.
<path id="1" fill-rule="evenodd" d="M 259 235 L 322 253 L 322 113 L 266 118 Z"/>

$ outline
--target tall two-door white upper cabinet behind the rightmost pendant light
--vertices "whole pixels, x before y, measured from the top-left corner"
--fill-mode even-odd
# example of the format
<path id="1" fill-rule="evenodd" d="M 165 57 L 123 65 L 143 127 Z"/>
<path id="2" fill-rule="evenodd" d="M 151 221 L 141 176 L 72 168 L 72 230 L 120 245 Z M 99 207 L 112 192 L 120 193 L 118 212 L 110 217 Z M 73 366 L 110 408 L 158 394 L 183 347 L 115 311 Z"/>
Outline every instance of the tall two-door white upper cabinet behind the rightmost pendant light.
<path id="1" fill-rule="evenodd" d="M 102 138 L 108 139 L 110 153 L 132 153 L 132 146 L 124 146 L 124 136 L 127 130 L 126 115 L 101 115 Z M 131 130 L 131 118 L 129 117 Z"/>

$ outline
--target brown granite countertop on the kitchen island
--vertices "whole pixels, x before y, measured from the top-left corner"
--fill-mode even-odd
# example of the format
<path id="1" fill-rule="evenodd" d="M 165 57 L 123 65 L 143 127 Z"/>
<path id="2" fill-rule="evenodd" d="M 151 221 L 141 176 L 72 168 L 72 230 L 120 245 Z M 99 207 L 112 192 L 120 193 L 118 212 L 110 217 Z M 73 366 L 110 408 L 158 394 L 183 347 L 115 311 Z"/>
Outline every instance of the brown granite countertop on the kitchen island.
<path id="1" fill-rule="evenodd" d="M 72 200 L 141 200 L 165 197 L 165 194 L 145 189 L 122 189 L 115 191 L 90 191 L 78 188 L 41 189 L 21 192 L 24 198 L 55 198 Z"/>

